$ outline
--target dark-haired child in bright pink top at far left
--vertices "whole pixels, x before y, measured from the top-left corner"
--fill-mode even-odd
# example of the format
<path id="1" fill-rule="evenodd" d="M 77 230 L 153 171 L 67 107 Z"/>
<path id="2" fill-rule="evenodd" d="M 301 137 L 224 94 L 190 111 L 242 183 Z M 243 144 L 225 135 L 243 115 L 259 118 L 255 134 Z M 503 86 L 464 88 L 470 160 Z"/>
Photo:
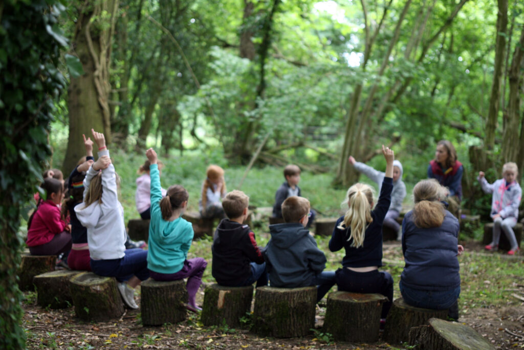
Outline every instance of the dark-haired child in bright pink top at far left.
<path id="1" fill-rule="evenodd" d="M 27 246 L 31 255 L 58 255 L 71 249 L 69 227 L 60 216 L 63 185 L 54 178 L 46 178 L 40 185 L 44 191 L 37 209 L 27 222 Z"/>

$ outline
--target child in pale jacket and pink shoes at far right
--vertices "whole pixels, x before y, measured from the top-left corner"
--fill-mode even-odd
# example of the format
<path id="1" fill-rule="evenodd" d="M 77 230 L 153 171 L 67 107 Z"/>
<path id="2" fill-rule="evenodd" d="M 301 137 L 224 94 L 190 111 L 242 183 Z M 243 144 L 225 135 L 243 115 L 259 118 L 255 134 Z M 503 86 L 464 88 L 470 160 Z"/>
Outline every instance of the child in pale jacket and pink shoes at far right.
<path id="1" fill-rule="evenodd" d="M 478 173 L 478 181 L 486 193 L 493 193 L 492 210 L 490 216 L 493 218 L 493 241 L 485 248 L 486 250 L 497 250 L 500 239 L 500 227 L 504 230 L 511 245 L 509 255 L 515 254 L 519 249 L 515 232 L 512 227 L 517 224 L 519 216 L 520 198 L 522 189 L 515 179 L 519 171 L 517 164 L 506 163 L 502 167 L 502 177 L 493 184 L 489 184 L 484 177 L 484 172 Z"/>

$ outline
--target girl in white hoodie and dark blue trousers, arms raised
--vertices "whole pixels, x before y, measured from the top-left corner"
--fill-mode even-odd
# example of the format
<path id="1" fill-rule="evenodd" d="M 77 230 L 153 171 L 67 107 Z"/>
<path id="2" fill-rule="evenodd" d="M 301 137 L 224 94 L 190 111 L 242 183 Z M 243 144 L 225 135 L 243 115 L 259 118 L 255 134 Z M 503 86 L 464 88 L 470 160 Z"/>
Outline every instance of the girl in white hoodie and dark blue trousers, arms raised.
<path id="1" fill-rule="evenodd" d="M 104 134 L 93 129 L 91 132 L 99 146 L 99 158 L 85 175 L 84 203 L 74 211 L 88 229 L 91 270 L 101 276 L 115 277 L 126 305 L 138 309 L 133 289 L 149 278 L 147 250 L 125 249 L 126 228 L 124 208 L 118 201 L 118 176 L 105 146 Z"/>

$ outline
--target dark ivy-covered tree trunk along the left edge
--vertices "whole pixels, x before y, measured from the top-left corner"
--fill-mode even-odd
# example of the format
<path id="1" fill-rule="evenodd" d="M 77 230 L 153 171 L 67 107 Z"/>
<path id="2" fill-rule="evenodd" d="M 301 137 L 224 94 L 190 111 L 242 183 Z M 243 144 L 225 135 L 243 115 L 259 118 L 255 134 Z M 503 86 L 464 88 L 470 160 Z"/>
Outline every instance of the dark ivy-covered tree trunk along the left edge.
<path id="1" fill-rule="evenodd" d="M 57 69 L 67 44 L 54 0 L 6 0 L 0 5 L 0 348 L 25 348 L 22 294 L 17 287 L 22 208 L 42 180 L 51 155 L 49 124 L 65 88 Z"/>

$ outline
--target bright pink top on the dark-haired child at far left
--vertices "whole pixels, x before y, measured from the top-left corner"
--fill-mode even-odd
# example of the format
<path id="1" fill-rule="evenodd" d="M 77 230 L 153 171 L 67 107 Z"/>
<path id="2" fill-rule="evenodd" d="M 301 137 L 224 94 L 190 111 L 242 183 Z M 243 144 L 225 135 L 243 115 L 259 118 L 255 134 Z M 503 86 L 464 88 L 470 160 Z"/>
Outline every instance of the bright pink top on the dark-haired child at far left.
<path id="1" fill-rule="evenodd" d="M 54 235 L 65 231 L 67 224 L 60 218 L 60 208 L 52 200 L 43 201 L 31 221 L 27 231 L 27 246 L 35 247 L 46 244 Z"/>

